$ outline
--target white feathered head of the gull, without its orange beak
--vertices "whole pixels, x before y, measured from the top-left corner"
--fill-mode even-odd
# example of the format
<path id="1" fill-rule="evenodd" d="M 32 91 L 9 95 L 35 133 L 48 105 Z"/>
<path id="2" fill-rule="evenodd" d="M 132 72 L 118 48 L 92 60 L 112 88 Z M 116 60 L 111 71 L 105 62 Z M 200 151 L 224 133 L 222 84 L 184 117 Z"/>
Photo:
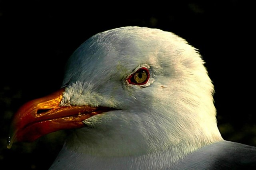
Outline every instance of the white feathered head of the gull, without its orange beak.
<path id="1" fill-rule="evenodd" d="M 70 57 L 63 87 L 62 105 L 114 109 L 83 121 L 66 143 L 74 150 L 128 156 L 169 148 L 182 157 L 222 140 L 204 61 L 171 32 L 123 27 L 92 36 Z"/>

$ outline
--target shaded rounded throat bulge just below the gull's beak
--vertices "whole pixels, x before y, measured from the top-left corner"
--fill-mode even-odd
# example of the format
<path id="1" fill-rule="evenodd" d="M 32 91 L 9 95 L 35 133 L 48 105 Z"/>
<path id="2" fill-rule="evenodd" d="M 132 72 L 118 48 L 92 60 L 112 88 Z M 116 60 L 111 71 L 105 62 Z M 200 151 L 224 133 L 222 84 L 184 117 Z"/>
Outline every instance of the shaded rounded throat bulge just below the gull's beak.
<path id="1" fill-rule="evenodd" d="M 152 152 L 145 140 L 135 136 L 87 126 L 72 133 L 65 147 L 77 153 L 100 157 L 140 156 Z"/>

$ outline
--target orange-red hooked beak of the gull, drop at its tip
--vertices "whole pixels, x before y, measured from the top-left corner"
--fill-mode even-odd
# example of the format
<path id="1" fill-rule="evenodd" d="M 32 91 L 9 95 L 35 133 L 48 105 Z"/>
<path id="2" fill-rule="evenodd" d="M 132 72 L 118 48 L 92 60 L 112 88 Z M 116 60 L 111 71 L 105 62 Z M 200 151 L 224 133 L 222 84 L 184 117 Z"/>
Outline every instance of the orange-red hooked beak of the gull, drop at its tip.
<path id="1" fill-rule="evenodd" d="M 40 99 L 24 104 L 14 114 L 7 147 L 14 142 L 31 142 L 61 129 L 81 128 L 83 120 L 113 110 L 107 107 L 60 106 L 64 88 Z"/>

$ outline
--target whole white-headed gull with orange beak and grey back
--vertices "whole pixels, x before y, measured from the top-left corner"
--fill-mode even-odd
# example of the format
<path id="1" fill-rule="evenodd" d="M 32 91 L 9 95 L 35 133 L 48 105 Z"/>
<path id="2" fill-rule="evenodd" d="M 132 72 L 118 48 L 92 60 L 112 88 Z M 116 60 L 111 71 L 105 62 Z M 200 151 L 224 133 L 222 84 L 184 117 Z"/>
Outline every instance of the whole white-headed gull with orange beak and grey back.
<path id="1" fill-rule="evenodd" d="M 222 138 L 213 94 L 186 40 L 152 28 L 108 30 L 74 51 L 60 90 L 17 111 L 7 147 L 74 129 L 50 169 L 255 169 L 256 147 Z"/>

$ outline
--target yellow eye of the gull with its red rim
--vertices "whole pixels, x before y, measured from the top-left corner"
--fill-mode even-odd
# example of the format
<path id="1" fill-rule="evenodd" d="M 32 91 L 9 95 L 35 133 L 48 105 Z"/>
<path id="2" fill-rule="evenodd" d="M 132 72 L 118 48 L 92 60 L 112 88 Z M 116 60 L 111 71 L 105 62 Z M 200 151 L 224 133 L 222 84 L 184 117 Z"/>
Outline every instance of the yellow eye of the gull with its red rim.
<path id="1" fill-rule="evenodd" d="M 133 85 L 144 85 L 148 82 L 149 71 L 146 67 L 138 69 L 135 73 L 128 77 L 127 81 Z"/>

